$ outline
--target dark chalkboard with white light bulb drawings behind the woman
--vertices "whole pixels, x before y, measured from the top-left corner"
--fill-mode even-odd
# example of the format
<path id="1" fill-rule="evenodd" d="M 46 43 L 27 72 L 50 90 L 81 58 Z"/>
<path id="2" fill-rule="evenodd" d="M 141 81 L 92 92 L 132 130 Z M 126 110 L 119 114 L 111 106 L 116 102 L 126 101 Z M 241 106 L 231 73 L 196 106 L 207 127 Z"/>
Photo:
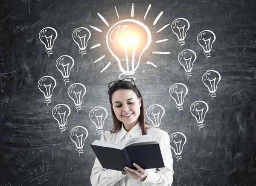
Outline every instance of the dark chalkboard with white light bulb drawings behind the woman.
<path id="1" fill-rule="evenodd" d="M 0 186 L 89 186 L 90 144 L 112 128 L 108 82 L 125 77 L 136 78 L 145 120 L 170 136 L 174 186 L 255 186 L 255 9 L 255 0 L 2 0 Z M 143 23 L 141 37 L 151 37 L 129 75 L 107 44 L 122 20 Z M 90 39 L 79 51 L 73 35 L 80 32 Z M 54 43 L 45 45 L 50 36 Z M 196 55 L 190 70 L 182 66 L 189 55 Z M 64 78 L 57 66 L 66 60 L 74 65 Z M 40 86 L 49 84 L 46 98 Z M 85 94 L 75 105 L 68 91 L 79 87 Z M 175 102 L 172 93 L 183 97 Z M 99 111 L 108 113 L 102 128 L 90 119 Z M 149 119 L 153 111 L 158 123 Z M 64 112 L 60 126 L 54 114 Z M 77 150 L 70 135 L 78 126 L 88 135 Z M 186 141 L 182 151 L 174 139 Z"/>

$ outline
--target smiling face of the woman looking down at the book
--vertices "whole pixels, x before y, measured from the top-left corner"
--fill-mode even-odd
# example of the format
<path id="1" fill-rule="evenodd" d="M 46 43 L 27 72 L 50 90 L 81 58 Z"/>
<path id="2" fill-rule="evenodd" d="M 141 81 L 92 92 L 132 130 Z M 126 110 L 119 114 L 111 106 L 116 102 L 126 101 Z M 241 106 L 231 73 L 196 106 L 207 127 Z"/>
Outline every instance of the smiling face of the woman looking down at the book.
<path id="1" fill-rule="evenodd" d="M 134 127 L 139 121 L 141 99 L 130 89 L 116 90 L 112 94 L 113 110 L 119 121 Z"/>

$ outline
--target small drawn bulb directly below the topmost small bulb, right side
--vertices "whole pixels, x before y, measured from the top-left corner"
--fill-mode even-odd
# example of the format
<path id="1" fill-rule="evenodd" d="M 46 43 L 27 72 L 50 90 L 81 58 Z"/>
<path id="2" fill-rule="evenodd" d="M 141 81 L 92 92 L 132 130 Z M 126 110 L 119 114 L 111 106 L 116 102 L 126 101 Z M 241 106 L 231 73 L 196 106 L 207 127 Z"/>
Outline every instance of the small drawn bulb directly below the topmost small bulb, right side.
<path id="1" fill-rule="evenodd" d="M 185 74 L 186 74 L 187 78 L 192 76 L 191 70 L 192 70 L 193 64 L 196 60 L 195 52 L 190 49 L 183 50 L 178 55 L 178 60 L 179 60 L 180 64 L 184 67 Z"/>

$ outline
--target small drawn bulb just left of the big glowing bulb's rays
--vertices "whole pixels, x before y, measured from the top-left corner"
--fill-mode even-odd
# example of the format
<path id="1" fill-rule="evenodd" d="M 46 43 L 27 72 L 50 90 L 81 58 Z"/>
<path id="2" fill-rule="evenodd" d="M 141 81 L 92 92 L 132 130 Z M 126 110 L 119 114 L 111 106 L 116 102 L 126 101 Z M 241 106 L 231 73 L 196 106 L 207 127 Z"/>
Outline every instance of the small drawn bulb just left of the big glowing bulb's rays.
<path id="1" fill-rule="evenodd" d="M 79 52 L 81 53 L 82 57 L 86 54 L 86 46 L 87 42 L 90 39 L 91 33 L 90 30 L 84 27 L 77 28 L 73 34 L 73 40 L 79 46 Z"/>

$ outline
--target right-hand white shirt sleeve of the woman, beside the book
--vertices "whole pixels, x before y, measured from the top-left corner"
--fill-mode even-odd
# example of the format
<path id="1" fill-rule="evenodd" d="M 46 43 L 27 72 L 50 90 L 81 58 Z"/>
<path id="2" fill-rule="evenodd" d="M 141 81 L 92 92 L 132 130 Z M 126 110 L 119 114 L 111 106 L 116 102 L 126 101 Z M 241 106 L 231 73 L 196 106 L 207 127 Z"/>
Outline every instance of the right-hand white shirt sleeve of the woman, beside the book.
<path id="1" fill-rule="evenodd" d="M 156 173 L 148 171 L 146 179 L 142 182 L 146 186 L 171 186 L 173 182 L 173 159 L 167 132 L 160 137 L 159 146 L 165 167 L 157 168 Z"/>

